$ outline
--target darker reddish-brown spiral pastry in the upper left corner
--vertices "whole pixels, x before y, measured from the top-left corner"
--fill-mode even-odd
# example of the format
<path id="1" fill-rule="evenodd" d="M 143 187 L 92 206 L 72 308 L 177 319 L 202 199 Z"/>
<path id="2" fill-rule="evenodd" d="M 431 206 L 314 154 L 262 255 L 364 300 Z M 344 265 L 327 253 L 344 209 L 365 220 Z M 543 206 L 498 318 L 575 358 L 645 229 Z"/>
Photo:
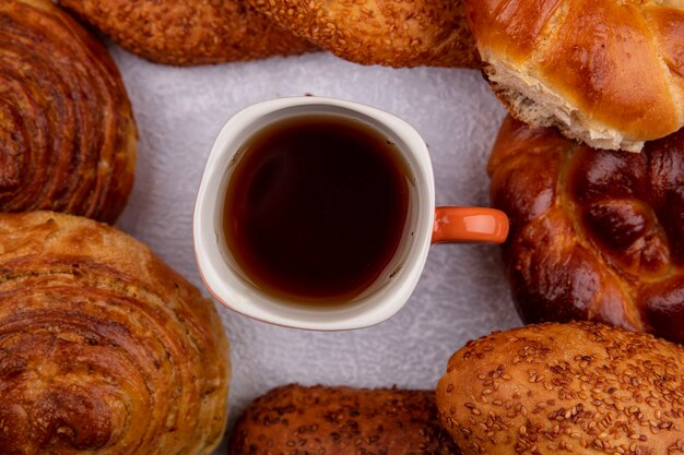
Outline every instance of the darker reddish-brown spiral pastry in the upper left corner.
<path id="1" fill-rule="evenodd" d="M 114 61 L 49 0 L 3 0 L 0 24 L 0 212 L 115 221 L 138 132 Z"/>

